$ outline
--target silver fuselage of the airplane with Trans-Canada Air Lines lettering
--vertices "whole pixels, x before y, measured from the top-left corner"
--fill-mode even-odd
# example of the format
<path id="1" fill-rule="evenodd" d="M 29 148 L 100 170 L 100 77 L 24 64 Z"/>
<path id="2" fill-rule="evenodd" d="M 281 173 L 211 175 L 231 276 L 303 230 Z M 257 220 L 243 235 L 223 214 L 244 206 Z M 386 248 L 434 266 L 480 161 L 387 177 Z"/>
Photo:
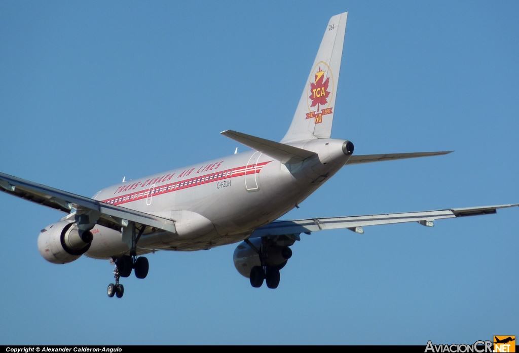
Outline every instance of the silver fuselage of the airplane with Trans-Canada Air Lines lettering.
<path id="1" fill-rule="evenodd" d="M 349 159 L 344 141 L 293 143 L 317 153 L 299 165 L 284 165 L 252 150 L 120 183 L 94 198 L 175 221 L 176 234 L 145 234 L 138 253 L 236 243 L 290 211 L 333 176 Z M 88 257 L 116 258 L 129 251 L 121 232 L 96 225 L 92 233 Z"/>

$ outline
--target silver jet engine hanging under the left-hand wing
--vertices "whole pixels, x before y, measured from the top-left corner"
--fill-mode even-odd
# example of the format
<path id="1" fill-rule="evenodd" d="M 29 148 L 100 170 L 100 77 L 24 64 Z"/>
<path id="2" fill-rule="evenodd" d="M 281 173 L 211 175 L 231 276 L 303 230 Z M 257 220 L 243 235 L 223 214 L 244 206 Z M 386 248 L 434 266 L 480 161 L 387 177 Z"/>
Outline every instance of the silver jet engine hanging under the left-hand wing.
<path id="1" fill-rule="evenodd" d="M 61 221 L 42 229 L 38 236 L 38 250 L 52 263 L 69 263 L 77 260 L 90 248 L 93 235 L 90 231 L 79 236 L 75 222 Z"/>

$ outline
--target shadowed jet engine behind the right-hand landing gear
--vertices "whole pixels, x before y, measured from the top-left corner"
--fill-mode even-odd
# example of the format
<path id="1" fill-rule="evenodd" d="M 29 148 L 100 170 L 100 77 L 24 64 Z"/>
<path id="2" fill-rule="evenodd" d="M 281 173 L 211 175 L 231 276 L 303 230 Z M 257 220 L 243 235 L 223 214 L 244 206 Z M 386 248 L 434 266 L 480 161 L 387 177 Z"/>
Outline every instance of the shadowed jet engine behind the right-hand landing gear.
<path id="1" fill-rule="evenodd" d="M 249 241 L 256 249 L 261 249 L 261 238 L 253 238 Z M 270 246 L 264 253 L 265 264 L 270 267 L 282 267 L 291 256 L 292 250 L 288 246 Z M 247 278 L 250 276 L 252 267 L 261 266 L 260 255 L 245 242 L 236 247 L 233 259 L 236 270 Z"/>

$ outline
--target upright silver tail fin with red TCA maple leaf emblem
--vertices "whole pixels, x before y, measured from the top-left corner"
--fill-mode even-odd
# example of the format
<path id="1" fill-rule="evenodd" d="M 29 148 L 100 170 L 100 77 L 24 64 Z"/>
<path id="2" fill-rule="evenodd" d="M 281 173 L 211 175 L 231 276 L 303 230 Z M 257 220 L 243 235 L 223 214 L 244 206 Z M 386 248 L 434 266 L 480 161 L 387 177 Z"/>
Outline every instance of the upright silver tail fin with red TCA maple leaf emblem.
<path id="1" fill-rule="evenodd" d="M 282 143 L 330 137 L 347 17 L 348 12 L 335 15 L 326 26 L 303 95 Z"/>

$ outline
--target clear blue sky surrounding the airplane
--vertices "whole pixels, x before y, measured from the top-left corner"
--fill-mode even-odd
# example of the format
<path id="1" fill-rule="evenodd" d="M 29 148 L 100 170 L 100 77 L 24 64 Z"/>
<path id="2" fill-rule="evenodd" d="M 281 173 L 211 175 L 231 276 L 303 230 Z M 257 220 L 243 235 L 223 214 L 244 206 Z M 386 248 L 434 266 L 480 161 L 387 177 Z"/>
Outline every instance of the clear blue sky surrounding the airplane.
<path id="1" fill-rule="evenodd" d="M 349 11 L 332 137 L 355 153 L 285 219 L 519 202 L 517 2 L 0 2 L 0 171 L 91 196 L 280 140 L 324 27 Z M 235 245 L 46 262 L 56 210 L 0 195 L 0 344 L 473 343 L 519 334 L 519 209 L 302 236 L 277 290 Z M 514 255 L 515 254 L 515 255 Z M 514 260 L 515 259 L 515 260 Z"/>

